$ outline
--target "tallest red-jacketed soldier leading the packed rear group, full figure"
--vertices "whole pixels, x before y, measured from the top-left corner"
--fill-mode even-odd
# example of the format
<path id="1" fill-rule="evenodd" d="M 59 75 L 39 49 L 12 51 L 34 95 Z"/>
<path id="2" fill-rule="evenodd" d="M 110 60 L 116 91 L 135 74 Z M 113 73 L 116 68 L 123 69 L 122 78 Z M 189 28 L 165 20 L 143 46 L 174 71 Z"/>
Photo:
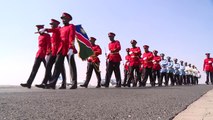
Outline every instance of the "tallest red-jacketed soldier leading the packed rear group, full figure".
<path id="1" fill-rule="evenodd" d="M 137 86 L 137 81 L 141 84 L 141 75 L 140 75 L 140 57 L 141 49 L 137 47 L 137 41 L 131 40 L 132 48 L 130 48 L 130 59 L 129 59 L 129 73 L 130 75 L 127 78 L 127 86 L 130 87 L 131 80 L 133 80 L 133 87 Z M 134 71 L 136 72 L 137 78 L 134 77 Z M 134 79 L 135 78 L 135 79 Z"/>

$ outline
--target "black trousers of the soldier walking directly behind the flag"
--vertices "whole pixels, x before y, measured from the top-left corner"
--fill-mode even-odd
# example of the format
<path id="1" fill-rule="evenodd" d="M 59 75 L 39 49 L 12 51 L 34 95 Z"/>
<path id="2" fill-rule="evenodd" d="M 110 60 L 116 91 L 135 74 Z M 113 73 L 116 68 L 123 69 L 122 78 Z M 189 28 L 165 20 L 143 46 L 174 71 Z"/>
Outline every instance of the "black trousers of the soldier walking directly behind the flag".
<path id="1" fill-rule="evenodd" d="M 100 63 L 92 63 L 92 62 L 87 63 L 86 81 L 84 82 L 84 85 L 88 86 L 93 70 L 95 70 L 95 74 L 97 77 L 97 86 L 101 85 L 101 74 L 99 70 L 99 64 Z"/>

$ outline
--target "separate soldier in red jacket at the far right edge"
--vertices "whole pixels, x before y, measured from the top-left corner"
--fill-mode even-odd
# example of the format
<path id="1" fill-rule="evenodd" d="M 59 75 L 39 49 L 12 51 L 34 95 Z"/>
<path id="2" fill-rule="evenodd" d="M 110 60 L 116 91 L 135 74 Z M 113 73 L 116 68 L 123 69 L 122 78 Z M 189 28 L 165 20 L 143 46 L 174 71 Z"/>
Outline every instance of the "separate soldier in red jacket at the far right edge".
<path id="1" fill-rule="evenodd" d="M 212 67 L 213 58 L 210 58 L 210 53 L 206 53 L 206 59 L 203 62 L 203 71 L 206 72 L 206 84 L 209 84 L 209 79 L 213 84 L 213 67 Z"/>

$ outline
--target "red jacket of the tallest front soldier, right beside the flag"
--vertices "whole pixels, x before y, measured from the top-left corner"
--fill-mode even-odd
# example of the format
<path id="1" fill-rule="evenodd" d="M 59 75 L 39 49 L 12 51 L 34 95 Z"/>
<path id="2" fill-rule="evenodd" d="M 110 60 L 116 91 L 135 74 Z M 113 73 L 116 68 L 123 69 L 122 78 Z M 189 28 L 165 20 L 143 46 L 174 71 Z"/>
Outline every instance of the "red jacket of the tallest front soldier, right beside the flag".
<path id="1" fill-rule="evenodd" d="M 61 42 L 59 45 L 58 52 L 61 52 L 62 55 L 66 56 L 68 49 L 72 49 L 73 53 L 77 53 L 77 50 L 74 46 L 75 42 L 75 26 L 70 24 L 68 26 L 63 26 L 60 29 Z"/>

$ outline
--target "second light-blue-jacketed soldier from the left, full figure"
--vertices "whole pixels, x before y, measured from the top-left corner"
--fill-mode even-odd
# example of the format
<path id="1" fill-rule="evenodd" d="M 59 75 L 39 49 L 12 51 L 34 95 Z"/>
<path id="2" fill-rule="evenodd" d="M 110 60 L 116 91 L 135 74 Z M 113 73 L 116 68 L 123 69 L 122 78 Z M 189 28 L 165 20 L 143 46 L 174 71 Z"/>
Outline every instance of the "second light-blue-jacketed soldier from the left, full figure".
<path id="1" fill-rule="evenodd" d="M 171 81 L 171 86 L 174 85 L 174 79 L 173 79 L 173 72 L 174 72 L 174 69 L 173 69 L 173 61 L 171 60 L 171 57 L 167 57 L 167 62 L 168 62 L 168 65 L 167 65 L 167 81 L 169 82 L 169 79 Z"/>

